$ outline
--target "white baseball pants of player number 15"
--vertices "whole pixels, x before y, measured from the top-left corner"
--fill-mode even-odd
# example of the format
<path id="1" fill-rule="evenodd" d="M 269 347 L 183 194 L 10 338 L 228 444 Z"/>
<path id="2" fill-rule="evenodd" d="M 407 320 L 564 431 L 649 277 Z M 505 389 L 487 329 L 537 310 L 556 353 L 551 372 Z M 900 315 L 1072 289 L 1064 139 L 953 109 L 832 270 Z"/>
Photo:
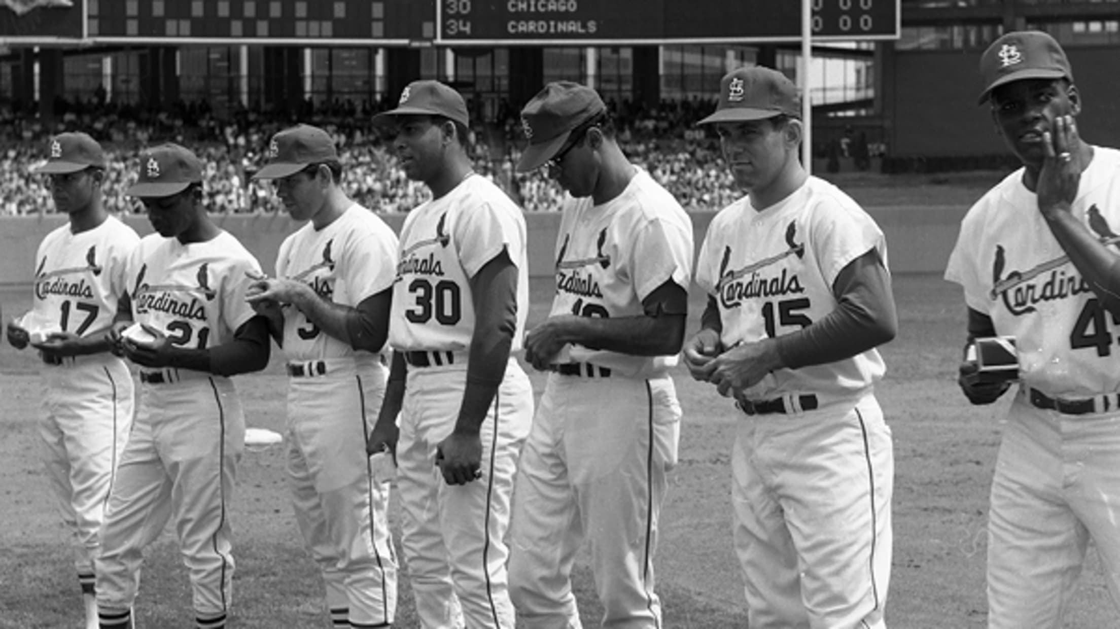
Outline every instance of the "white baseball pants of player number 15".
<path id="1" fill-rule="evenodd" d="M 744 415 L 731 473 L 750 629 L 884 628 L 894 453 L 875 396 Z"/>

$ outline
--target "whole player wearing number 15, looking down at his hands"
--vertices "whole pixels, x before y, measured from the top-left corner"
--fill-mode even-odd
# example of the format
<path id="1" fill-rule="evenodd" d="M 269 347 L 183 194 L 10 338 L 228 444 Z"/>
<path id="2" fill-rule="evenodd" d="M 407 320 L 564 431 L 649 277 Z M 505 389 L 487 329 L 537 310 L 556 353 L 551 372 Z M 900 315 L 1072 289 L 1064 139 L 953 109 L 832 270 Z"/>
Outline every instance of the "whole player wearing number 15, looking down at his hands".
<path id="1" fill-rule="evenodd" d="M 708 306 L 684 360 L 743 413 L 731 503 L 752 629 L 881 628 L 894 457 L 875 348 L 897 327 L 886 243 L 805 173 L 800 113 L 782 73 L 748 67 L 724 76 L 700 121 L 747 195 L 708 227 Z"/>

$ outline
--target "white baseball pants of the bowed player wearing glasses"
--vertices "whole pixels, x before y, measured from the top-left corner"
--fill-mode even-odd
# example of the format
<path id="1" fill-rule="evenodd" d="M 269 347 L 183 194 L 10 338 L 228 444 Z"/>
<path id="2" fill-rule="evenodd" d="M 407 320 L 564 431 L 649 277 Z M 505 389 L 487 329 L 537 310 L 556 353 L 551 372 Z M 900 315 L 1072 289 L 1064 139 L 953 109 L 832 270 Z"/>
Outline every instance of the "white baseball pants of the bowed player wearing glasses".
<path id="1" fill-rule="evenodd" d="M 514 498 L 510 583 L 519 627 L 581 627 L 570 576 L 585 537 L 603 626 L 662 626 L 653 556 L 680 417 L 668 376 L 549 376 Z"/>

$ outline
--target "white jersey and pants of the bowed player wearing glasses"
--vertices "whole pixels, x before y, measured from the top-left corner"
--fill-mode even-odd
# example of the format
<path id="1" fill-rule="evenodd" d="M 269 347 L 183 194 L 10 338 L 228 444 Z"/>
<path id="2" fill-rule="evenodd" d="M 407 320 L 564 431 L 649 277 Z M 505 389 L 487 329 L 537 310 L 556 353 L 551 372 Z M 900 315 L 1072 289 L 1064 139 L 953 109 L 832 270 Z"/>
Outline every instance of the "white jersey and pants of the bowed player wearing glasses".
<path id="1" fill-rule="evenodd" d="M 642 169 L 614 199 L 564 201 L 552 316 L 640 317 L 666 281 L 688 290 L 692 224 Z M 653 555 L 681 407 L 673 356 L 570 348 L 549 375 L 517 475 L 510 582 L 519 626 L 578 628 L 571 567 L 584 538 L 604 627 L 661 627 Z M 559 368 L 559 367 L 558 367 Z"/>

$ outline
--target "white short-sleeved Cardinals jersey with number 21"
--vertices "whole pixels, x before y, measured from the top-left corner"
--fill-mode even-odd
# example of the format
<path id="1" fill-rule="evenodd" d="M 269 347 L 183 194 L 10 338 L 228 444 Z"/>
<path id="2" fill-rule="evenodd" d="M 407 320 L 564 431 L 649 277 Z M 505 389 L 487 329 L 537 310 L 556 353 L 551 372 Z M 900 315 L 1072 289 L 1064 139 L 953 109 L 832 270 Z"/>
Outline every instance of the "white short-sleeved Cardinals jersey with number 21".
<path id="1" fill-rule="evenodd" d="M 188 244 L 144 236 L 130 263 L 133 320 L 188 349 L 224 345 L 253 318 L 245 290 L 260 273 L 256 259 L 227 232 Z"/>

